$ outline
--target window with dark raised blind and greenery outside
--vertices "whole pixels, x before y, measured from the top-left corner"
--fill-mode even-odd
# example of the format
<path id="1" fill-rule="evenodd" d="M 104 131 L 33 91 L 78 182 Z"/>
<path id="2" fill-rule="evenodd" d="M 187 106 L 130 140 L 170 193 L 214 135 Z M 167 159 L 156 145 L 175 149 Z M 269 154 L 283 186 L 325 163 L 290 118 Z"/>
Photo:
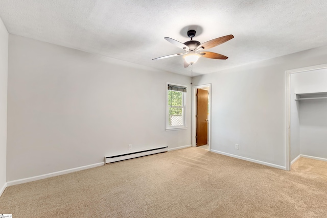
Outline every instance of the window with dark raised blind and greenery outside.
<path id="1" fill-rule="evenodd" d="M 186 128 L 186 86 L 167 84 L 167 130 Z"/>

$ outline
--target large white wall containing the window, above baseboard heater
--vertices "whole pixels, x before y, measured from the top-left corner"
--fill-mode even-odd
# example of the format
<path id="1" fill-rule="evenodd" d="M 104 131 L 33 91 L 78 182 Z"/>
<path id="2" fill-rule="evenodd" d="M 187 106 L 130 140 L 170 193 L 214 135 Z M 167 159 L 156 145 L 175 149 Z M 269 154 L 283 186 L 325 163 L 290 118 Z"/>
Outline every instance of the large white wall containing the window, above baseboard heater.
<path id="1" fill-rule="evenodd" d="M 188 85 L 186 130 L 166 131 L 167 82 Z M 10 34 L 7 181 L 191 144 L 190 83 L 190 77 Z"/>

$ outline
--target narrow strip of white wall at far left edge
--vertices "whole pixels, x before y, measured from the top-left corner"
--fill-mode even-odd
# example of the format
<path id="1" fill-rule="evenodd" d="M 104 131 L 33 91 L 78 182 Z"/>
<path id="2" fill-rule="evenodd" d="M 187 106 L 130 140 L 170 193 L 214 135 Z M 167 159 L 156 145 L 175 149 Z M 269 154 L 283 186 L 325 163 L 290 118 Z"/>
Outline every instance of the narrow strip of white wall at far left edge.
<path id="1" fill-rule="evenodd" d="M 0 18 L 0 196 L 6 184 L 8 36 Z"/>

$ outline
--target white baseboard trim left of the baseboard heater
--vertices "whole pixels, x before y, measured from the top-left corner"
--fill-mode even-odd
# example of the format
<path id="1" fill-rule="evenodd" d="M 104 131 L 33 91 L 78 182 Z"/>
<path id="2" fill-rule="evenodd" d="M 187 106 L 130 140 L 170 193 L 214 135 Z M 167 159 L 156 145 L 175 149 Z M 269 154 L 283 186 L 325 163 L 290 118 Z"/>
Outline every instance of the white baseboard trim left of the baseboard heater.
<path id="1" fill-rule="evenodd" d="M 89 168 L 103 166 L 103 165 L 104 165 L 104 162 L 101 162 L 101 163 L 90 164 L 87 166 L 80 166 L 80 167 L 76 167 L 76 168 L 65 169 L 64 171 L 58 171 L 58 172 L 54 172 L 54 173 L 50 173 L 50 174 L 33 176 L 33 177 L 25 178 L 25 179 L 17 179 L 17 180 L 7 182 L 7 186 L 18 185 L 21 183 L 32 182 L 32 181 L 45 179 L 45 178 L 49 178 L 49 177 L 54 177 L 54 176 L 60 176 L 60 175 L 69 174 L 69 173 L 73 173 L 73 172 L 77 172 L 77 171 L 82 171 L 83 169 L 89 169 Z"/>

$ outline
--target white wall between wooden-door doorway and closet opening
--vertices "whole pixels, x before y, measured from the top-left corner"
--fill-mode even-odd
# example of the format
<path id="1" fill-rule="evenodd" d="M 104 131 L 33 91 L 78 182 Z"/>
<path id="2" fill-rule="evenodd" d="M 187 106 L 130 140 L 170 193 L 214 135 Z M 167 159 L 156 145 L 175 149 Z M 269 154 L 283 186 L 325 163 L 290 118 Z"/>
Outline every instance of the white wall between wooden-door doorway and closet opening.
<path id="1" fill-rule="evenodd" d="M 193 78 L 212 83 L 212 150 L 284 168 L 285 70 L 326 62 L 324 46 Z"/>

